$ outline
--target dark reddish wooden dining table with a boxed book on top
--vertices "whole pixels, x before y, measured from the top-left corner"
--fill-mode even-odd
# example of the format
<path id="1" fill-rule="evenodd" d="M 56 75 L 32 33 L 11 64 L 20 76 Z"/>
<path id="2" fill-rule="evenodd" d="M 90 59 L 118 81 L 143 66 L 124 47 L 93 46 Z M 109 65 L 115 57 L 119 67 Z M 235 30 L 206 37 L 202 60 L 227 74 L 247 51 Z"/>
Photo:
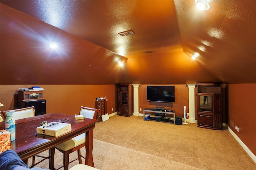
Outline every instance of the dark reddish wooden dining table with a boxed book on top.
<path id="1" fill-rule="evenodd" d="M 69 119 L 65 123 L 70 123 L 72 131 L 65 133 L 58 137 L 52 137 L 43 134 L 37 134 L 36 127 L 40 126 L 40 123 L 47 121 L 47 123 L 60 120 Z M 51 150 L 60 143 L 67 141 L 77 135 L 86 133 L 86 160 L 85 164 L 94 167 L 92 149 L 93 149 L 93 129 L 96 124 L 96 120 L 84 118 L 82 120 L 76 120 L 74 115 L 67 115 L 61 113 L 49 113 L 44 115 L 38 115 L 34 117 L 28 117 L 25 119 L 16 120 L 16 139 L 12 141 L 11 149 L 14 150 L 20 158 L 27 163 L 28 158 L 35 156 L 45 150 L 49 150 L 49 168 L 54 170 L 55 168 L 50 162 Z M 0 129 L 4 129 L 4 123 L 0 125 Z"/>

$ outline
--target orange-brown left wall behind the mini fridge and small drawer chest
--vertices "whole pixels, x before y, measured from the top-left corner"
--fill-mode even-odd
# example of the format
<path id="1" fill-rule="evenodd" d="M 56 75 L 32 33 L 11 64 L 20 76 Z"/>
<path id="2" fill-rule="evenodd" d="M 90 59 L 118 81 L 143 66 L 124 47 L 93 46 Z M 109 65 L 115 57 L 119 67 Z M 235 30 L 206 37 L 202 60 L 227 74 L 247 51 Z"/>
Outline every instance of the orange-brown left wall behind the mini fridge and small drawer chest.
<path id="1" fill-rule="evenodd" d="M 1 110 L 14 109 L 16 90 L 34 85 L 1 85 L 0 102 L 4 104 Z M 43 87 L 46 99 L 46 113 L 79 114 L 80 106 L 95 108 L 96 97 L 108 99 L 108 113 L 116 111 L 116 89 L 114 85 L 38 85 Z M 112 111 L 114 108 L 114 111 Z"/>

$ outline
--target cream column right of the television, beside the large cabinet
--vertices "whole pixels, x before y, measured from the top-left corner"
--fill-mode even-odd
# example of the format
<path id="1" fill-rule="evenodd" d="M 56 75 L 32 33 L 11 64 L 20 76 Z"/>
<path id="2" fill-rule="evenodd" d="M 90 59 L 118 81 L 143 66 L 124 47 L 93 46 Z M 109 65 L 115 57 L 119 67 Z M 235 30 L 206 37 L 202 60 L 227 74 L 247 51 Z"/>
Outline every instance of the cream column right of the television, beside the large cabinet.
<path id="1" fill-rule="evenodd" d="M 196 84 L 188 85 L 188 109 L 189 109 L 189 122 L 196 123 L 195 119 L 195 86 Z"/>

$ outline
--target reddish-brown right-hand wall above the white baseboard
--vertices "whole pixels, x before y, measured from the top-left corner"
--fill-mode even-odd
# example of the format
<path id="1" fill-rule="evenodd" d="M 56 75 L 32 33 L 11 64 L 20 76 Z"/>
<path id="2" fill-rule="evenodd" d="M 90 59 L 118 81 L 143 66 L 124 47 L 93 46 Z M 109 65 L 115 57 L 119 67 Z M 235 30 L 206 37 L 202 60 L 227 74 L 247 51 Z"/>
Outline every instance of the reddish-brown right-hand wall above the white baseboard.
<path id="1" fill-rule="evenodd" d="M 229 127 L 256 155 L 256 84 L 229 84 Z M 234 126 L 238 126 L 239 132 Z"/>

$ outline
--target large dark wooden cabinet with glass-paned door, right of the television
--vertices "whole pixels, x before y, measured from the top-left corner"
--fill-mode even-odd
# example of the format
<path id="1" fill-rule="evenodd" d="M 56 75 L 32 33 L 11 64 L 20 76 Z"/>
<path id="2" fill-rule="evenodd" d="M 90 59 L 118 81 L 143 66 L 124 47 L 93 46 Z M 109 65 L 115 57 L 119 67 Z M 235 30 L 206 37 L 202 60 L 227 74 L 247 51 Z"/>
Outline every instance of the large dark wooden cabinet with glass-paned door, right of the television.
<path id="1" fill-rule="evenodd" d="M 222 83 L 197 82 L 198 127 L 222 130 Z"/>

